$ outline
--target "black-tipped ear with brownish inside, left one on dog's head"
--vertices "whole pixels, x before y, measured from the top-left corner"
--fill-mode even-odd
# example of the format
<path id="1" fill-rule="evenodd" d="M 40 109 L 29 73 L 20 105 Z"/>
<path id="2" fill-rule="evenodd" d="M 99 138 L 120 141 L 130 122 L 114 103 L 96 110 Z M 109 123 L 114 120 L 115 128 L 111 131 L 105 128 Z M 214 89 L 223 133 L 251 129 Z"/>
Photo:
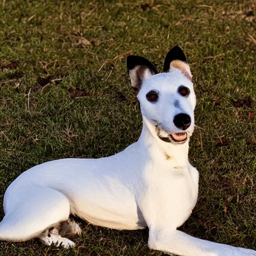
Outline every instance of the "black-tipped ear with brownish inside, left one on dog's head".
<path id="1" fill-rule="evenodd" d="M 129 55 L 126 58 L 127 71 L 133 90 L 138 93 L 142 80 L 153 74 L 157 74 L 154 65 L 144 57 Z"/>

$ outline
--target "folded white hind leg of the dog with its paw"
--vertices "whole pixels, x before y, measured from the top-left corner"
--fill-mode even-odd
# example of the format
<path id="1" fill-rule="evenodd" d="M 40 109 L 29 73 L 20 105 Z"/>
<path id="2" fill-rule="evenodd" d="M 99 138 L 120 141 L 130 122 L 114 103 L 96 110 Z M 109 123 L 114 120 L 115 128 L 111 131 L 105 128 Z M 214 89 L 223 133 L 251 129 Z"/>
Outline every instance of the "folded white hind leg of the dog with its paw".
<path id="1" fill-rule="evenodd" d="M 25 241 L 40 237 L 45 230 L 66 221 L 70 204 L 68 198 L 57 190 L 33 184 L 25 189 L 14 185 L 9 186 L 4 195 L 4 212 L 0 240 Z M 51 241 L 57 245 L 60 242 L 73 245 L 60 235 L 47 237 L 47 244 Z"/>

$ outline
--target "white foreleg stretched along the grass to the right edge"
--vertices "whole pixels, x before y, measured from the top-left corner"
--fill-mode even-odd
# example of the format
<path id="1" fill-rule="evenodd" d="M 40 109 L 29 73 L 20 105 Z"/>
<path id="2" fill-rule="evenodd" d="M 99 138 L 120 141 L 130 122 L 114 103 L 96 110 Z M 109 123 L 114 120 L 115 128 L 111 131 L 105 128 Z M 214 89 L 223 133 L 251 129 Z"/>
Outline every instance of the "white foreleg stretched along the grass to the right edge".
<path id="1" fill-rule="evenodd" d="M 255 256 L 256 251 L 211 242 L 190 236 L 179 230 L 150 228 L 148 246 L 168 254 L 182 256 Z"/>

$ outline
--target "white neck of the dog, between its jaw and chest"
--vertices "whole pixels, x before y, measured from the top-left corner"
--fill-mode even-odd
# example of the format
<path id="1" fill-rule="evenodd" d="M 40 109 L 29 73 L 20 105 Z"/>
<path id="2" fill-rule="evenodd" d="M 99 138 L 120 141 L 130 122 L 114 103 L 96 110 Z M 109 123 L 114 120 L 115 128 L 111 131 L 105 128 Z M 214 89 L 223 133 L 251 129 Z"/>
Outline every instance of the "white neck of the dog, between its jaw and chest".
<path id="1" fill-rule="evenodd" d="M 155 126 L 143 116 L 143 126 L 138 144 L 146 147 L 150 158 L 155 161 L 169 161 L 176 167 L 182 167 L 188 162 L 188 140 L 183 144 L 173 144 L 158 138 Z M 166 162 L 166 164 L 168 164 Z"/>

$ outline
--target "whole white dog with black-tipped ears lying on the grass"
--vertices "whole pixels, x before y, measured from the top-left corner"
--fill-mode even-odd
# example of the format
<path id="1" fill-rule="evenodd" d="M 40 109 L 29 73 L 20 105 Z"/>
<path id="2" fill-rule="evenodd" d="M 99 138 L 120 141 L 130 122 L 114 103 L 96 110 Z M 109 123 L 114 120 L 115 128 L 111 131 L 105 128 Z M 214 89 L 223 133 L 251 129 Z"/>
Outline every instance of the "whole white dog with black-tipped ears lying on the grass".
<path id="1" fill-rule="evenodd" d="M 72 246 L 63 237 L 80 232 L 72 214 L 109 228 L 148 226 L 149 247 L 165 253 L 255 256 L 177 230 L 198 192 L 198 172 L 187 158 L 195 94 L 183 51 L 167 53 L 163 73 L 139 56 L 128 56 L 127 68 L 143 119 L 138 141 L 109 157 L 54 160 L 23 172 L 4 194 L 0 239 Z"/>

